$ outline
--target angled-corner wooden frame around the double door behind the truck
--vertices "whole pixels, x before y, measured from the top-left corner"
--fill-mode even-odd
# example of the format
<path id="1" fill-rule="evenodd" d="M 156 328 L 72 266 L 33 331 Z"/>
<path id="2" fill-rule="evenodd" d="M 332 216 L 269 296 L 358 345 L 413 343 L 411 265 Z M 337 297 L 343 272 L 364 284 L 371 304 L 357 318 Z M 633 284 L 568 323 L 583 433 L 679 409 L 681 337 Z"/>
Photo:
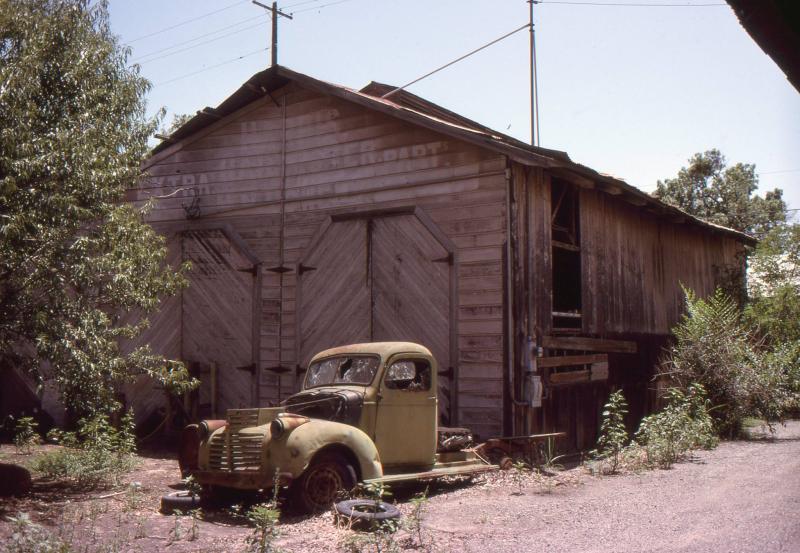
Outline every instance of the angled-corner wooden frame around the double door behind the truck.
<path id="1" fill-rule="evenodd" d="M 447 252 L 447 258 L 442 259 L 441 261 L 446 261 L 448 265 L 450 265 L 450 315 L 449 315 L 449 331 L 450 331 L 450 366 L 443 368 L 439 367 L 439 376 L 446 376 L 450 379 L 450 424 L 452 426 L 456 426 L 458 424 L 458 248 L 456 247 L 455 243 L 450 239 L 447 234 L 445 234 L 431 219 L 431 217 L 425 213 L 425 211 L 416 205 L 408 205 L 408 206 L 399 206 L 399 207 L 389 207 L 389 208 L 382 208 L 382 209 L 370 209 L 370 210 L 362 210 L 362 211 L 347 211 L 341 213 L 334 213 L 327 216 L 322 223 L 320 223 L 319 227 L 317 228 L 314 235 L 311 237 L 309 241 L 308 248 L 304 252 L 303 256 L 301 257 L 300 261 L 296 265 L 296 274 L 297 274 L 297 289 L 296 289 L 296 298 L 295 298 L 295 305 L 297 305 L 297 316 L 295 320 L 295 336 L 297 337 L 295 343 L 295 355 L 296 359 L 301 359 L 302 354 L 302 341 L 303 336 L 300 331 L 300 322 L 302 319 L 302 313 L 300 313 L 300 305 L 302 300 L 302 275 L 306 269 L 308 269 L 308 265 L 306 262 L 311 258 L 311 255 L 315 252 L 319 244 L 322 242 L 326 232 L 330 228 L 333 223 L 339 221 L 352 221 L 357 219 L 380 219 L 384 217 L 399 217 L 403 215 L 412 215 L 414 216 L 425 229 L 433 236 L 434 240 L 439 243 L 442 248 Z M 302 370 L 302 367 L 298 365 L 296 374 Z M 295 377 L 296 378 L 296 377 Z M 297 387 L 297 381 L 295 380 L 295 388 Z"/>

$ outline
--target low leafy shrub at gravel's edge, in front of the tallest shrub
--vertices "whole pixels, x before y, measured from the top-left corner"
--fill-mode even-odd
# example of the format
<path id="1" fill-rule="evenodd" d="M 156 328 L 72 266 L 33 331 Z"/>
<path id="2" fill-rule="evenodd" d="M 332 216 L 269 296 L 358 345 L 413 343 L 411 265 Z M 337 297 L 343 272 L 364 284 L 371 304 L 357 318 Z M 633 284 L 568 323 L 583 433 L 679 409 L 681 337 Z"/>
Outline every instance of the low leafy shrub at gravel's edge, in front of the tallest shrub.
<path id="1" fill-rule="evenodd" d="M 636 432 L 633 448 L 642 448 L 648 465 L 669 468 L 688 451 L 716 447 L 718 438 L 702 385 L 692 384 L 686 393 L 670 388 L 665 399 L 664 408 L 642 419 Z"/>

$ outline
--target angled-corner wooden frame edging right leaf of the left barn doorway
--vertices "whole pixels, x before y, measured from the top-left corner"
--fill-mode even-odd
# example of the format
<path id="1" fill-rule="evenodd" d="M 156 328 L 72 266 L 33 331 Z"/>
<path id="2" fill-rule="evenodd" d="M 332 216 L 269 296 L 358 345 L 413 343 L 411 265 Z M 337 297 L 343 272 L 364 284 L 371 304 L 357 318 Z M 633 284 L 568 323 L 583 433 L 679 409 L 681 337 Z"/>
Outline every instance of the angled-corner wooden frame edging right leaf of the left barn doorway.
<path id="1" fill-rule="evenodd" d="M 228 223 L 220 222 L 199 222 L 187 221 L 187 224 L 177 234 L 181 237 L 181 244 L 186 233 L 196 231 L 218 230 L 225 235 L 230 243 L 236 250 L 247 260 L 253 267 L 253 292 L 252 292 L 252 335 L 250 338 L 250 362 L 253 365 L 253 378 L 250 390 L 250 402 L 252 405 L 258 405 L 259 390 L 261 388 L 261 286 L 263 280 L 263 262 L 258 256 L 250 249 L 247 242 L 239 235 L 238 232 Z M 183 246 L 181 245 L 181 248 Z M 183 262 L 183 253 L 181 253 L 181 262 Z M 181 311 L 183 310 L 183 293 L 181 293 Z M 181 326 L 183 322 L 181 321 Z M 183 329 L 181 329 L 181 334 Z M 181 340 L 182 341 L 182 340 Z M 181 356 L 183 356 L 183 344 L 181 343 Z"/>

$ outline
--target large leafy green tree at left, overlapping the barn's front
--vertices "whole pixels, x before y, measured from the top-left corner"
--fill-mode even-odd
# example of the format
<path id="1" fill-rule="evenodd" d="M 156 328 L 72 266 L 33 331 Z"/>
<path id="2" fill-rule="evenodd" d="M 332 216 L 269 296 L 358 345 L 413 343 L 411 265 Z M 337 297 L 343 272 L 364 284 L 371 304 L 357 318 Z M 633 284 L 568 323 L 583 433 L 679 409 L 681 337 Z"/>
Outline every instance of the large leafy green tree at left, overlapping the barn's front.
<path id="1" fill-rule="evenodd" d="M 185 282 L 164 240 L 125 202 L 158 121 L 105 2 L 0 2 L 0 369 L 52 378 L 65 404 L 117 407 L 148 374 L 189 382 L 147 347 L 121 350 Z"/>

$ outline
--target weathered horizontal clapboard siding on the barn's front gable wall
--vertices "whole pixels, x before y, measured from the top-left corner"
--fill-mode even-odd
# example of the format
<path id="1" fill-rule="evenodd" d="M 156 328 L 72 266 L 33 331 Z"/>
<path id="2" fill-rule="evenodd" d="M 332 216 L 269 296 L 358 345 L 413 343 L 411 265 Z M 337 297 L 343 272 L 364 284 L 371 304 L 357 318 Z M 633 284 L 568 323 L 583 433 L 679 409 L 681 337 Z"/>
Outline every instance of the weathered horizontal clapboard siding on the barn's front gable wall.
<path id="1" fill-rule="evenodd" d="M 499 433 L 505 158 L 293 84 L 272 96 L 154 164 L 132 197 L 169 196 L 151 214 L 162 232 L 198 224 L 185 210 L 198 197 L 198 221 L 229 225 L 260 259 L 261 402 L 302 377 L 294 268 L 326 217 L 417 206 L 456 247 L 456 420 Z"/>

